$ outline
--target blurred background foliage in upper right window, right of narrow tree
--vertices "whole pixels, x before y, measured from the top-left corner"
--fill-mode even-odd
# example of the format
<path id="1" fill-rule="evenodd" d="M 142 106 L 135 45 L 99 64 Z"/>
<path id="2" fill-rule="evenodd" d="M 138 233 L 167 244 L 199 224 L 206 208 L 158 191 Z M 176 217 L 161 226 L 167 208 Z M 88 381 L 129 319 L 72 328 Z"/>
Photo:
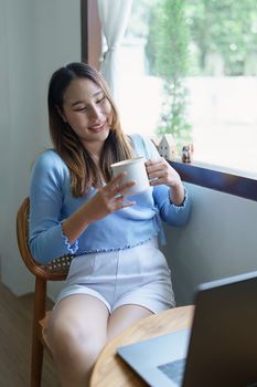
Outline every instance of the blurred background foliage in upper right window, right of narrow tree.
<path id="1" fill-rule="evenodd" d="M 191 0 L 188 17 L 192 42 L 197 48 L 199 72 L 213 75 L 207 56 L 219 55 L 223 75 L 257 75 L 256 0 Z"/>

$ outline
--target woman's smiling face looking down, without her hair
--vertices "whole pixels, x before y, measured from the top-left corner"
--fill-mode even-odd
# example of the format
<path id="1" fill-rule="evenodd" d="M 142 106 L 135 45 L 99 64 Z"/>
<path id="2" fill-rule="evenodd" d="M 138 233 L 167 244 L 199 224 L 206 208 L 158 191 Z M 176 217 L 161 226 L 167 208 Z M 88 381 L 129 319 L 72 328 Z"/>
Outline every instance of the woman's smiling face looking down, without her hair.
<path id="1" fill-rule="evenodd" d="M 109 135 L 113 107 L 103 90 L 88 79 L 72 81 L 60 114 L 88 149 L 101 147 Z"/>

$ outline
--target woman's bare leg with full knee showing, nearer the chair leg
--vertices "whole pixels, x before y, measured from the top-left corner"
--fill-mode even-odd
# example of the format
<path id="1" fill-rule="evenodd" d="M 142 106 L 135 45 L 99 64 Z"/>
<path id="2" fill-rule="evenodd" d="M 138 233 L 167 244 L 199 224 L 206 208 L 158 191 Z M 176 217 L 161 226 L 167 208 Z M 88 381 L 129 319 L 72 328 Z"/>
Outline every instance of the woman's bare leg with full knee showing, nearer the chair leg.
<path id="1" fill-rule="evenodd" d="M 74 294 L 53 310 L 47 326 L 63 387 L 86 387 L 92 367 L 107 341 L 107 306 L 98 299 Z"/>

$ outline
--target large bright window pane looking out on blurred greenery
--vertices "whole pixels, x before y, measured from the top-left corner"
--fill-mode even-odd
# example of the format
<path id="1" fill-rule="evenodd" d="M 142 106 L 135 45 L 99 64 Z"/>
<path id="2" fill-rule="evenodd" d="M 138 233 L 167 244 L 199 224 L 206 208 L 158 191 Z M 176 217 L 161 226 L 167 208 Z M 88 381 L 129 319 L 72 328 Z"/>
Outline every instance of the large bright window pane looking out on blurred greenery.
<path id="1" fill-rule="evenodd" d="M 169 22 L 160 24 L 168 14 Z M 168 33 L 178 52 L 174 44 L 169 52 Z M 165 132 L 174 104 L 169 82 L 179 71 L 179 153 L 182 142 L 193 142 L 200 165 L 257 176 L 256 0 L 133 1 L 120 56 L 119 108 L 127 133 L 160 137 Z"/>

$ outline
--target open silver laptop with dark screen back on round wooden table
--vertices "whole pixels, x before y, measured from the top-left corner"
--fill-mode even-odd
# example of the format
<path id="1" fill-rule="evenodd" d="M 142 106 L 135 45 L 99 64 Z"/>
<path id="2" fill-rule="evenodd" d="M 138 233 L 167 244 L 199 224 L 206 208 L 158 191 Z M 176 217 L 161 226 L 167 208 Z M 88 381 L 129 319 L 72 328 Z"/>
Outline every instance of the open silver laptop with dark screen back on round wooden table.
<path id="1" fill-rule="evenodd" d="M 257 271 L 201 284 L 192 327 L 117 349 L 152 387 L 257 386 Z"/>

